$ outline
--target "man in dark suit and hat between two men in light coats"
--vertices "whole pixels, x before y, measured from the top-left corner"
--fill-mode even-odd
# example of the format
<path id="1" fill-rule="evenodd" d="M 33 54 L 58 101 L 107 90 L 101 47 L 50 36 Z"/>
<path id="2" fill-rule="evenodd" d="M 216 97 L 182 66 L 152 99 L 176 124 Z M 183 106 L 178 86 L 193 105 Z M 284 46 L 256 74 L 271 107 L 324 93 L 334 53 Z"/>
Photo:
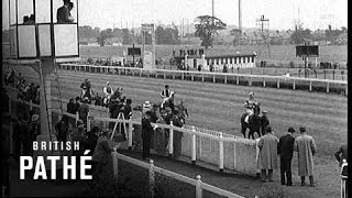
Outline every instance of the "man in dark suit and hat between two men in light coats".
<path id="1" fill-rule="evenodd" d="M 280 179 L 282 185 L 292 186 L 293 178 L 292 178 L 292 160 L 294 156 L 294 144 L 295 138 L 293 134 L 295 133 L 294 128 L 288 128 L 288 133 L 280 136 L 278 144 L 277 144 L 277 154 L 279 155 L 279 170 L 280 170 Z M 286 179 L 285 179 L 286 175 Z"/>

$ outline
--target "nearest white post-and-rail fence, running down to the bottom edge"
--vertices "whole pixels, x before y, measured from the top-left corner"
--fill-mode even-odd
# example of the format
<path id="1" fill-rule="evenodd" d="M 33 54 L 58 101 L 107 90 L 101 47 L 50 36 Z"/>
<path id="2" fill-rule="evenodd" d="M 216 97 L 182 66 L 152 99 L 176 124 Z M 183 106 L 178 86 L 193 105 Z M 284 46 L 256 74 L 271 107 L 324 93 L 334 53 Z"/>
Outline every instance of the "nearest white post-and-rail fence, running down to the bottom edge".
<path id="1" fill-rule="evenodd" d="M 157 166 L 154 165 L 154 161 L 153 160 L 151 160 L 150 164 L 148 164 L 148 163 L 145 163 L 145 162 L 142 162 L 142 161 L 138 161 L 135 158 L 122 155 L 122 154 L 118 153 L 116 148 L 111 153 L 111 155 L 112 155 L 113 175 L 114 175 L 116 180 L 118 180 L 118 175 L 119 175 L 118 174 L 118 172 L 119 172 L 119 169 L 118 169 L 119 168 L 119 166 L 118 166 L 119 161 L 118 160 L 122 160 L 122 161 L 125 161 L 128 163 L 131 163 L 131 164 L 134 164 L 134 165 L 138 165 L 138 166 L 141 166 L 143 168 L 147 168 L 148 169 L 148 180 L 150 180 L 148 184 L 150 184 L 151 197 L 154 197 L 155 173 L 158 173 L 158 174 L 162 174 L 164 176 L 167 176 L 167 177 L 170 177 L 170 178 L 174 178 L 174 179 L 180 180 L 183 183 L 187 183 L 189 185 L 195 186 L 196 187 L 196 196 L 195 196 L 196 198 L 201 198 L 202 197 L 202 190 L 208 190 L 208 191 L 217 194 L 219 196 L 229 197 L 229 198 L 243 198 L 242 196 L 239 196 L 237 194 L 233 194 L 233 193 L 223 190 L 221 188 L 215 187 L 212 185 L 202 183 L 200 175 L 197 175 L 196 179 L 193 179 L 193 178 L 186 177 L 184 175 L 179 175 L 179 174 L 176 174 L 174 172 L 157 167 Z"/>

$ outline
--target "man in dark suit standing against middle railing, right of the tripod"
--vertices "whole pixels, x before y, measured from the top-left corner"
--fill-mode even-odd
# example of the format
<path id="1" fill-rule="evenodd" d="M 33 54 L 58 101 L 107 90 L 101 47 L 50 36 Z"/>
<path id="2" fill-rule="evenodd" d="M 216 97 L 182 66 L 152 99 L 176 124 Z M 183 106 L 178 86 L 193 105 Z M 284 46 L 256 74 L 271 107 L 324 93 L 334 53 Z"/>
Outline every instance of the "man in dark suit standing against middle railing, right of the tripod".
<path id="1" fill-rule="evenodd" d="M 154 132 L 152 127 L 152 111 L 146 111 L 142 118 L 142 140 L 143 140 L 143 160 L 151 156 L 151 135 Z"/>

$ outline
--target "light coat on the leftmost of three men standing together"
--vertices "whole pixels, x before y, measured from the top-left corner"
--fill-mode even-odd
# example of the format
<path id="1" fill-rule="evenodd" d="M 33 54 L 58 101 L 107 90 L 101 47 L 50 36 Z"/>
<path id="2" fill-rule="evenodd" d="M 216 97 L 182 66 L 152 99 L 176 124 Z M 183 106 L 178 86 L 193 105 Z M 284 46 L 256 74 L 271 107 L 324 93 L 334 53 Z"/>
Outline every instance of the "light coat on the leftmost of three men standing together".
<path id="1" fill-rule="evenodd" d="M 277 168 L 277 143 L 278 139 L 272 133 L 266 133 L 257 143 L 260 147 L 258 168 L 276 169 Z"/>

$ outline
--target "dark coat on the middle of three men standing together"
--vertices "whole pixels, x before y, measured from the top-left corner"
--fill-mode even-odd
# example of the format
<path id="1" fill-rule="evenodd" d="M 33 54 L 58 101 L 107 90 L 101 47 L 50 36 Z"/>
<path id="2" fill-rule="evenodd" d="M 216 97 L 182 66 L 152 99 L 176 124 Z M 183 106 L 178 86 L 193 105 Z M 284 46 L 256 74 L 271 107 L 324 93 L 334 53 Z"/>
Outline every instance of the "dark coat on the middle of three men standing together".
<path id="1" fill-rule="evenodd" d="M 286 134 L 279 138 L 277 144 L 277 154 L 280 158 L 293 158 L 295 146 L 295 138 L 290 134 Z"/>

